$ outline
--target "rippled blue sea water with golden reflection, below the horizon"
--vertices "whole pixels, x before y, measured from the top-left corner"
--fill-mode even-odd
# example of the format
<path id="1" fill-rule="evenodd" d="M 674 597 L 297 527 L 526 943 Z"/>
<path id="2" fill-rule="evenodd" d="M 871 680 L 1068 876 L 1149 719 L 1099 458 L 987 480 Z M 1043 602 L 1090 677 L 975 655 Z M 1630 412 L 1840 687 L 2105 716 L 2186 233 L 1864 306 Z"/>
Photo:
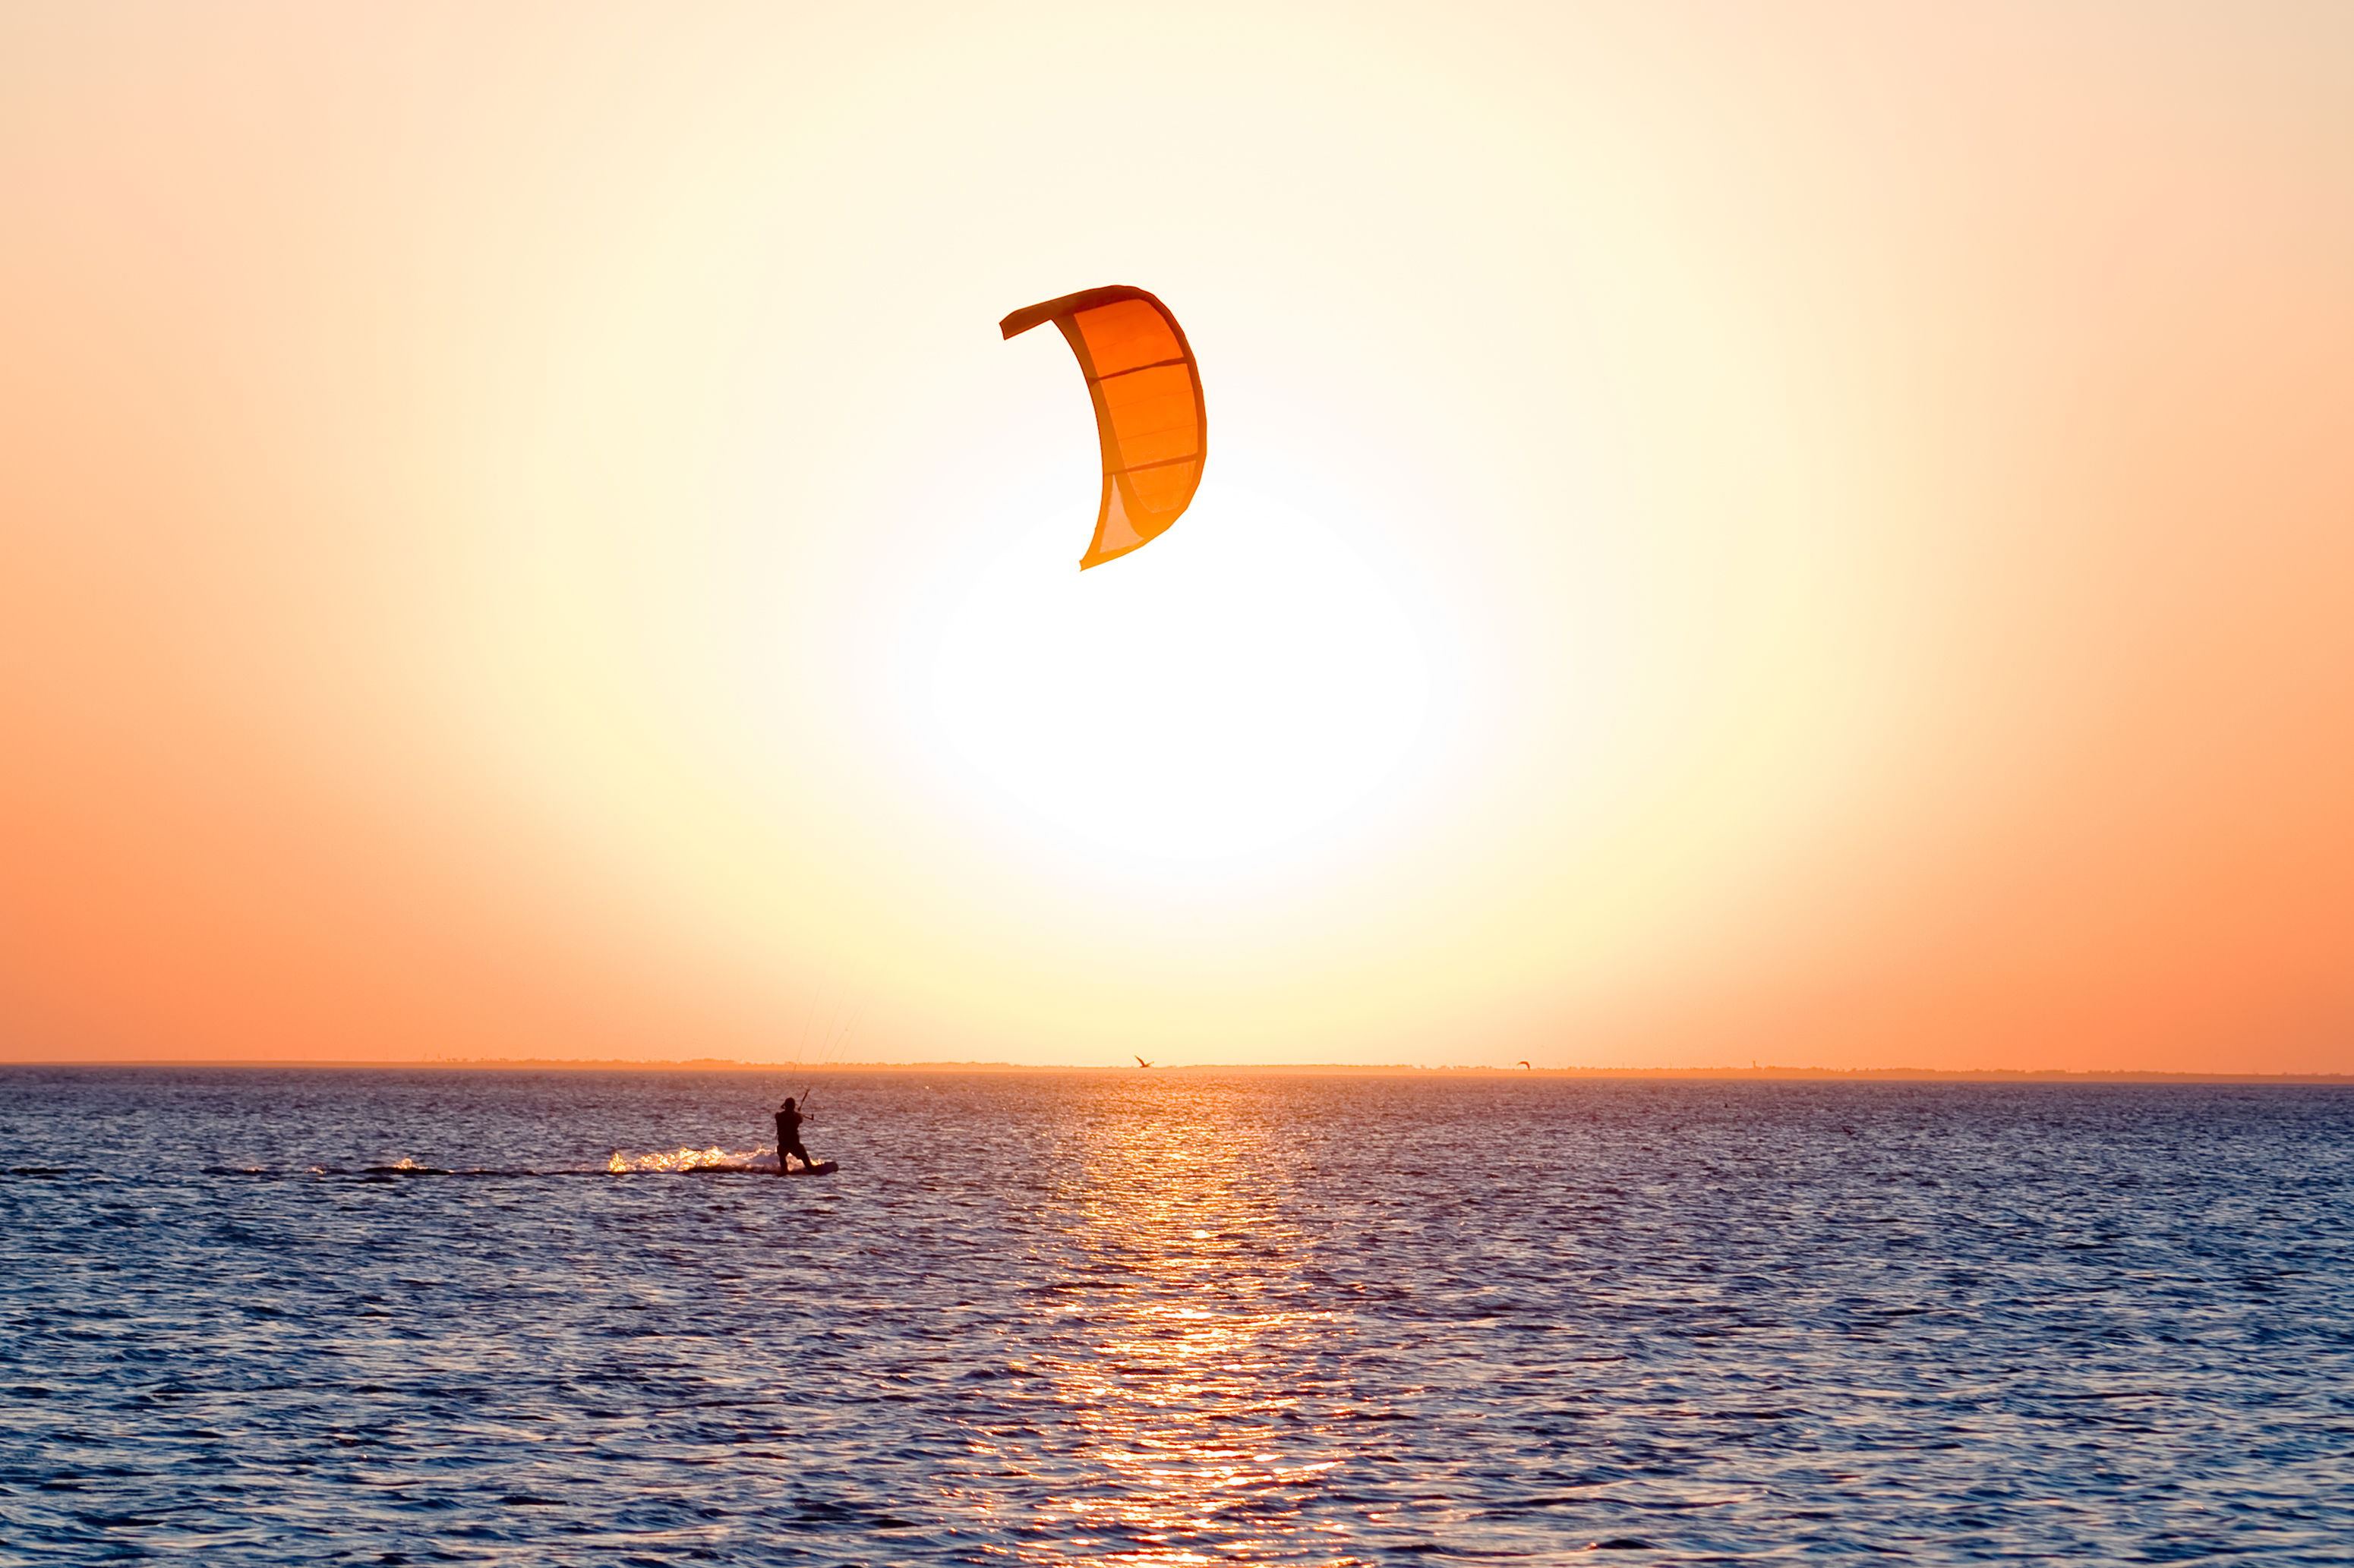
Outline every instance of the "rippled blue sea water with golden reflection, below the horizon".
<path id="1" fill-rule="evenodd" d="M 0 1561 L 2354 1563 L 2349 1090 L 789 1088 L 0 1069 Z"/>

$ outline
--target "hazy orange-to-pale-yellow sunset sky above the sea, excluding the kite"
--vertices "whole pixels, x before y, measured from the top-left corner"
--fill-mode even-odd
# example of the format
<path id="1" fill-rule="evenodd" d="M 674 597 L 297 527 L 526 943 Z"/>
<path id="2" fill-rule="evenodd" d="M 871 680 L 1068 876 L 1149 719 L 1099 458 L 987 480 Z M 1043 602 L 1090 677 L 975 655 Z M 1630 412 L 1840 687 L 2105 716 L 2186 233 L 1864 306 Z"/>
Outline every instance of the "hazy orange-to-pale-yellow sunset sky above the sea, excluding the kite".
<path id="1" fill-rule="evenodd" d="M 2335 0 L 0 0 L 0 1059 L 2354 1071 L 2349 278 Z"/>

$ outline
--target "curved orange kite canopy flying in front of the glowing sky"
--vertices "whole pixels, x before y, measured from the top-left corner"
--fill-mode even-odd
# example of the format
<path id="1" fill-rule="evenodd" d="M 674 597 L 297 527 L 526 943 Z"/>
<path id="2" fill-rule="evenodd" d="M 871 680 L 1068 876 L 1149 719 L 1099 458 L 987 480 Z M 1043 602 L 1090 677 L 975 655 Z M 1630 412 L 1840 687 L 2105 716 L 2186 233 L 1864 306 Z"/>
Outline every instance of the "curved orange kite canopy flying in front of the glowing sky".
<path id="1" fill-rule="evenodd" d="M 998 323 L 1019 337 L 1055 323 L 1078 356 L 1104 447 L 1104 501 L 1078 570 L 1156 539 L 1184 516 L 1201 485 L 1208 419 L 1201 372 L 1170 308 L 1125 285 L 1064 294 Z"/>

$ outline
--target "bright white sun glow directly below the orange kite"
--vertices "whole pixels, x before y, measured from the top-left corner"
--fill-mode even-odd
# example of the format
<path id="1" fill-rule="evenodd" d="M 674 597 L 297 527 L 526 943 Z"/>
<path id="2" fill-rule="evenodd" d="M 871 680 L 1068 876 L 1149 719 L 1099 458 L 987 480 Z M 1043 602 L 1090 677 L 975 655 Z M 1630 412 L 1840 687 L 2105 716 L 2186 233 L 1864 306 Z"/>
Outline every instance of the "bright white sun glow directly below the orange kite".
<path id="1" fill-rule="evenodd" d="M 946 789 L 1097 864 L 1233 873 L 1394 817 L 1441 746 L 1443 657 L 1346 532 L 1212 487 L 1137 560 L 1055 520 L 970 582 L 909 720 Z"/>

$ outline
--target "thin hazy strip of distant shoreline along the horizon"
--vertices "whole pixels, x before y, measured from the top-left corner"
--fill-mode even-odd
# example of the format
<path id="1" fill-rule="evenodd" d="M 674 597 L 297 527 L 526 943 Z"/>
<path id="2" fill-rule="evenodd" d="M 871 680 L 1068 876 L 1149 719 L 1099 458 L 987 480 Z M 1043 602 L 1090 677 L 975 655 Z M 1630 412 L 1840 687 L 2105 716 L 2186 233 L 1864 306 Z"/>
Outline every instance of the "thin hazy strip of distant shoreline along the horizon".
<path id="1" fill-rule="evenodd" d="M 1090 1074 L 1229 1076 L 1229 1078 L 1622 1078 L 1622 1081 L 1725 1081 L 1725 1083 L 2354 1083 L 2354 1074 L 2161 1074 L 2161 1071 L 2062 1071 L 2062 1069 L 1935 1069 L 1935 1067 L 1358 1067 L 1342 1062 L 1175 1062 L 1168 1067 L 1055 1067 L 1031 1062 L 737 1062 L 690 1057 L 683 1062 L 565 1059 L 565 1057 L 414 1057 L 386 1062 L 327 1059 L 169 1059 L 169 1057 L 47 1057 L 0 1062 L 12 1067 L 151 1067 L 151 1069 L 264 1069 L 264 1071 L 532 1071 L 532 1074 Z"/>

